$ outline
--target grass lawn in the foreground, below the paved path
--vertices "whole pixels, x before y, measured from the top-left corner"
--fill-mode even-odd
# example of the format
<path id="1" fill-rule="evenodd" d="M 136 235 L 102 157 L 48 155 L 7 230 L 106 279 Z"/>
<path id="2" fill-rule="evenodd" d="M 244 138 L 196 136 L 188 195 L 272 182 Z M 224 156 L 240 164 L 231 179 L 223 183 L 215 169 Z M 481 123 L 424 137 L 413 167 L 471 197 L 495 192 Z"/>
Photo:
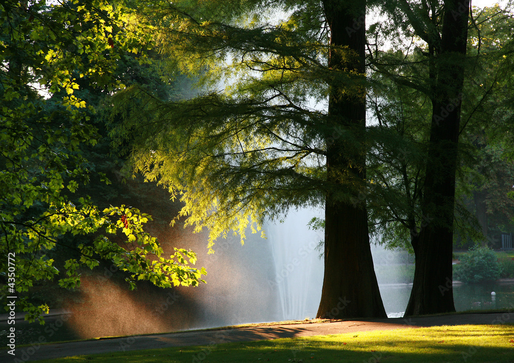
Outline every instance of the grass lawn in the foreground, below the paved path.
<path id="1" fill-rule="evenodd" d="M 44 362 L 514 362 L 514 325 L 467 325 L 212 344 Z M 43 361 L 42 361 L 43 362 Z"/>

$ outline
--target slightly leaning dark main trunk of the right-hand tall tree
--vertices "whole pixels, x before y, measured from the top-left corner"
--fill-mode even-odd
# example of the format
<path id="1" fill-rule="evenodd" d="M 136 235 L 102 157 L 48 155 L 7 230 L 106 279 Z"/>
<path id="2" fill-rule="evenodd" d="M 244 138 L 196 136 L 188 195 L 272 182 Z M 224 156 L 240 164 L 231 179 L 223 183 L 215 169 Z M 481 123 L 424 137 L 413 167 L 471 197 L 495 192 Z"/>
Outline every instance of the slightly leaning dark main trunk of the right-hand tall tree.
<path id="1" fill-rule="evenodd" d="M 445 0 L 424 196 L 427 221 L 413 246 L 414 282 L 406 316 L 455 311 L 452 289 L 455 171 L 461 119 L 469 0 Z"/>

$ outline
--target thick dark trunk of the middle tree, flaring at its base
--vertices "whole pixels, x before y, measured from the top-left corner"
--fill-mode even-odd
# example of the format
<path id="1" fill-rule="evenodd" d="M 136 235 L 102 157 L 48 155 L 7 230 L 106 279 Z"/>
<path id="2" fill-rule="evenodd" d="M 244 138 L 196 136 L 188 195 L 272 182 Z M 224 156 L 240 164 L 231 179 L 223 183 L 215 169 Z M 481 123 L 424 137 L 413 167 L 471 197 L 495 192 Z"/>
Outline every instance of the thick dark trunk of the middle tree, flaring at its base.
<path id="1" fill-rule="evenodd" d="M 331 31 L 328 66 L 333 71 L 364 73 L 365 1 L 323 1 Z M 353 56 L 341 56 L 347 46 Z M 365 100 L 343 93 L 336 81 L 331 85 L 328 105 L 334 127 L 365 131 Z M 358 92 L 355 92 L 358 93 Z M 328 184 L 337 189 L 348 180 L 365 179 L 364 147 L 355 149 L 342 138 L 327 142 Z M 334 192 L 325 202 L 325 273 L 318 318 L 386 317 L 373 266 L 365 203 L 341 201 Z"/>

